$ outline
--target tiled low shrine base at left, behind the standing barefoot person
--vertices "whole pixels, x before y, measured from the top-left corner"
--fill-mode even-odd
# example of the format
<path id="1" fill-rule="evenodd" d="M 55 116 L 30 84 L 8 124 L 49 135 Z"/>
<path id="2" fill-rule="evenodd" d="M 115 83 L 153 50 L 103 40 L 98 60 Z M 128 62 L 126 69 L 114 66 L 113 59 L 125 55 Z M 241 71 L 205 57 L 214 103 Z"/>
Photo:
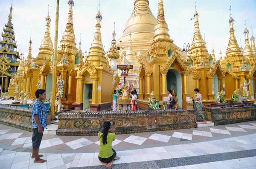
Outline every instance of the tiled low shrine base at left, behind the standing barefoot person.
<path id="1" fill-rule="evenodd" d="M 33 131 L 31 108 L 0 104 L 0 123 L 22 130 Z M 51 111 L 47 111 L 47 125 L 51 124 Z"/>

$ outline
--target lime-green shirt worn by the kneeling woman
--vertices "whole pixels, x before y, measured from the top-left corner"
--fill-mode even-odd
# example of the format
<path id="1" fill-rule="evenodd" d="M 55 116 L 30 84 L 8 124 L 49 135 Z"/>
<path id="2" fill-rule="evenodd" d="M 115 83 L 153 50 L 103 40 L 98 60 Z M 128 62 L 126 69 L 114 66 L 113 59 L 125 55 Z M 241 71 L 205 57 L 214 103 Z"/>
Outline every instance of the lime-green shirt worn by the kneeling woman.
<path id="1" fill-rule="evenodd" d="M 116 139 L 116 135 L 113 132 L 109 132 L 108 136 L 107 136 L 107 144 L 103 144 L 102 143 L 102 137 L 103 133 L 99 132 L 98 136 L 99 136 L 99 157 L 101 158 L 109 158 L 113 155 L 113 150 L 112 150 L 112 142 L 113 140 Z"/>

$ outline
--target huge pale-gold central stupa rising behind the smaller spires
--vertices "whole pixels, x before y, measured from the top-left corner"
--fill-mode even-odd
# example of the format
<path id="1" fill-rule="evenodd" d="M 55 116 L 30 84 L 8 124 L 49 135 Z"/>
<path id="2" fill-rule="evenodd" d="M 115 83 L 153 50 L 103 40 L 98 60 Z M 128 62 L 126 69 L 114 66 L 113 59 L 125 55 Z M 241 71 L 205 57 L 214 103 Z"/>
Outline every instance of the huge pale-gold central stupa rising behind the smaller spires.
<path id="1" fill-rule="evenodd" d="M 148 51 L 148 48 L 150 48 L 153 42 L 156 21 L 149 8 L 149 0 L 135 0 L 134 10 L 126 22 L 123 36 L 117 41 L 118 45 L 120 46 L 119 41 L 122 41 L 121 46 L 125 46 L 125 49 L 122 50 L 127 50 L 129 33 L 131 31 L 135 53 L 138 51 Z"/>

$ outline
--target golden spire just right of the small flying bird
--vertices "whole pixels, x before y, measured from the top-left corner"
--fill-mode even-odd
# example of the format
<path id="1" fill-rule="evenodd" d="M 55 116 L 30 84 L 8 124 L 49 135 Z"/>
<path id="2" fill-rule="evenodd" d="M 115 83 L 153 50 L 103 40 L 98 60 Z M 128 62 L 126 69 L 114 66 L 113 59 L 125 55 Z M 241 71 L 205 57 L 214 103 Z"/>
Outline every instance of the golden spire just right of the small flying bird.
<path id="1" fill-rule="evenodd" d="M 194 37 L 193 37 L 193 41 L 192 41 L 192 45 L 191 45 L 191 49 L 192 48 L 206 48 L 205 46 L 205 42 L 204 39 L 200 33 L 200 29 L 199 29 L 199 21 L 198 21 L 198 12 L 196 11 L 196 7 L 195 7 L 195 14 L 194 14 L 194 18 L 195 18 L 195 32 L 194 32 Z"/>

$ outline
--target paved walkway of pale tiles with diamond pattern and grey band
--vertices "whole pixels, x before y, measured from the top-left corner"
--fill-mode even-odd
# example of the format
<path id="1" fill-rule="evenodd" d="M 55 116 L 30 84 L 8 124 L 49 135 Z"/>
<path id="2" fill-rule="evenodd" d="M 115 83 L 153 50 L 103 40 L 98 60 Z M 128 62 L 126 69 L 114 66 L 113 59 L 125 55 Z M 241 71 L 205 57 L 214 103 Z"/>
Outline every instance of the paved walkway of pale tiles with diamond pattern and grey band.
<path id="1" fill-rule="evenodd" d="M 47 163 L 31 159 L 31 132 L 0 124 L 0 164 L 6 169 L 103 169 L 97 136 L 44 135 L 40 152 Z M 117 135 L 119 161 L 113 169 L 256 168 L 256 121 L 165 132 Z"/>

